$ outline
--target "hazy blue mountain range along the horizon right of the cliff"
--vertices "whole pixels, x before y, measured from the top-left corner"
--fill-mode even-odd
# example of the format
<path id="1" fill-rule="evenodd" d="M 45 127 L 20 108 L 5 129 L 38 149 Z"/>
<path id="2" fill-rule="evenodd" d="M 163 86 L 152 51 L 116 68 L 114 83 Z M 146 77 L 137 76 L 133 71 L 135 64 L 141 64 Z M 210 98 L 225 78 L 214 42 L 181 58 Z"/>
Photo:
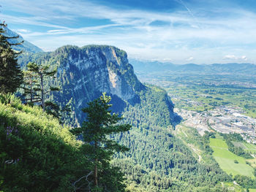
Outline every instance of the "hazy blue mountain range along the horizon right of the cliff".
<path id="1" fill-rule="evenodd" d="M 181 72 L 181 73 L 200 73 L 200 74 L 246 74 L 255 75 L 255 64 L 184 64 L 176 65 L 172 63 L 162 63 L 159 61 L 138 61 L 129 59 L 130 64 L 135 69 L 135 72 L 152 73 L 152 72 Z"/>

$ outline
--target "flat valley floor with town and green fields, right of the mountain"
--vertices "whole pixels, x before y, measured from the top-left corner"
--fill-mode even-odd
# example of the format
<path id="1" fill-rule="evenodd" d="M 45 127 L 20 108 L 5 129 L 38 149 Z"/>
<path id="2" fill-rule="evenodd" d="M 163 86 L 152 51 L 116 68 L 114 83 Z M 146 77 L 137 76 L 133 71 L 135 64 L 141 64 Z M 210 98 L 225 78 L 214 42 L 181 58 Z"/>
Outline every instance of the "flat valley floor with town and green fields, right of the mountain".
<path id="1" fill-rule="evenodd" d="M 155 74 L 148 78 L 150 76 L 139 75 L 143 82 L 165 88 L 175 104 L 175 112 L 183 119 L 173 133 L 190 148 L 199 162 L 211 164 L 209 159 L 214 158 L 220 168 L 233 178 L 236 175 L 255 178 L 256 78 L 248 84 L 246 77 L 218 75 L 218 80 L 214 81 L 214 77 L 204 75 L 195 77 L 189 74 Z M 236 78 L 236 82 L 242 78 L 242 83 L 232 84 L 233 78 Z M 206 153 L 202 148 L 206 132 L 216 136 L 209 138 L 208 145 L 213 153 Z M 253 158 L 246 159 L 228 150 L 221 134 L 233 133 L 240 134 L 244 139 L 232 141 L 234 147 L 241 147 Z M 227 185 L 230 191 L 243 191 L 236 180 L 223 185 Z"/>

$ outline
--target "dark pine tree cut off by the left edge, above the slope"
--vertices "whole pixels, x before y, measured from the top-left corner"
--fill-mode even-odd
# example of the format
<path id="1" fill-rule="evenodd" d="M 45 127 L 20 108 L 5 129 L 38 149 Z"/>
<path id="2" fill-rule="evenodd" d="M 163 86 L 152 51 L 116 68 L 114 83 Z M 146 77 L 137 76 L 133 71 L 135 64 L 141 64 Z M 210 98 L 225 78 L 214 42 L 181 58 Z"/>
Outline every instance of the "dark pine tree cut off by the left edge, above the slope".
<path id="1" fill-rule="evenodd" d="M 0 23 L 0 93 L 14 93 L 23 82 L 23 74 L 17 63 L 20 52 L 12 50 L 12 46 L 20 45 L 10 43 L 10 39 L 18 37 L 7 37 L 4 28 L 7 25 Z"/>

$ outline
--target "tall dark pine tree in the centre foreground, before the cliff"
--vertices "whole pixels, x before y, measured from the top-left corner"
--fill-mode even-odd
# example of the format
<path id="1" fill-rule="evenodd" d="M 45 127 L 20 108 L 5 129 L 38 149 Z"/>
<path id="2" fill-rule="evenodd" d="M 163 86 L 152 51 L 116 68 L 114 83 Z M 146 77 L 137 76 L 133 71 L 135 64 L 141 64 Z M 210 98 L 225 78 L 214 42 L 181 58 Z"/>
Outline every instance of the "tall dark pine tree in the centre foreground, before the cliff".
<path id="1" fill-rule="evenodd" d="M 80 128 L 73 128 L 72 133 L 77 136 L 82 136 L 84 141 L 84 149 L 86 155 L 94 164 L 93 180 L 94 189 L 100 191 L 101 188 L 106 188 L 106 178 L 111 180 L 111 177 L 118 175 L 118 178 L 113 178 L 113 182 L 108 190 L 122 191 L 124 185 L 121 184 L 122 177 L 120 172 L 115 169 L 110 169 L 109 161 L 114 152 L 124 152 L 128 148 L 123 145 L 118 145 L 117 142 L 109 139 L 110 134 L 116 134 L 123 131 L 128 131 L 131 126 L 129 124 L 117 124 L 120 118 L 117 114 L 111 114 L 110 96 L 103 93 L 98 99 L 89 102 L 88 107 L 83 109 L 86 112 L 87 118 Z M 109 174 L 111 173 L 111 174 Z M 107 176 L 108 175 L 108 176 Z M 111 182 L 110 182 L 111 183 Z M 119 188 L 119 189 L 118 189 Z"/>

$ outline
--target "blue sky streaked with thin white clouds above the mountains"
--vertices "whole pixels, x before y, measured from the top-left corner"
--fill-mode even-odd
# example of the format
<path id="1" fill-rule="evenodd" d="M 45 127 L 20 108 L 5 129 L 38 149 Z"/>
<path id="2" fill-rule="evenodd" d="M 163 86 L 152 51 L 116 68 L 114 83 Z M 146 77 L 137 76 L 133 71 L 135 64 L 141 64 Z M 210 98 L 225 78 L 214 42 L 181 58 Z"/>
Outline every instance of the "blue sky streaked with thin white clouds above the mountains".
<path id="1" fill-rule="evenodd" d="M 255 0 L 1 0 L 0 20 L 45 51 L 113 45 L 173 64 L 256 64 Z"/>

